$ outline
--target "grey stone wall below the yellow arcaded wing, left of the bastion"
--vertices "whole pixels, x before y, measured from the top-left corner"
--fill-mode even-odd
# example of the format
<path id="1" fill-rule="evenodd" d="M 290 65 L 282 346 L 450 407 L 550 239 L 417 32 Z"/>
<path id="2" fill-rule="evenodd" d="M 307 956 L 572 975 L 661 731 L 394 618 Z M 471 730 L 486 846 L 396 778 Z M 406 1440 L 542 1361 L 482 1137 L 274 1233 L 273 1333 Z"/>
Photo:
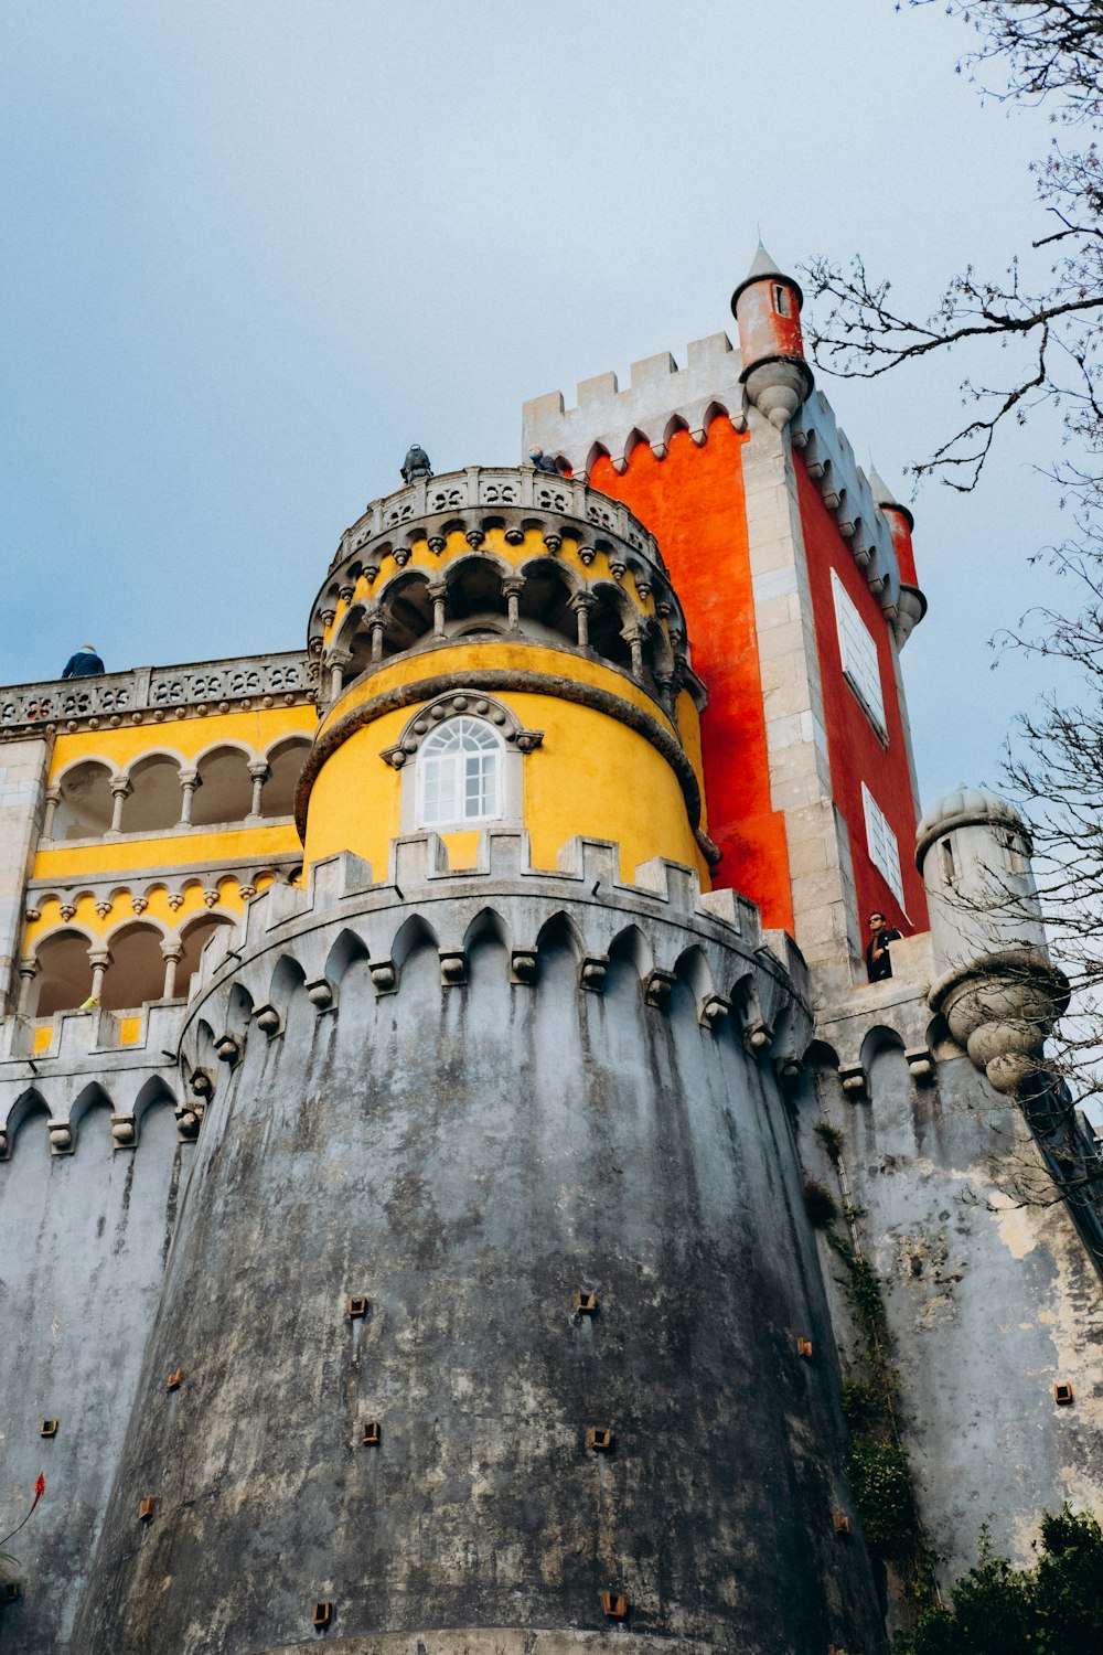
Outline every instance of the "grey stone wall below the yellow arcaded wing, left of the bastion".
<path id="1" fill-rule="evenodd" d="M 91 1076 L 86 1076 L 86 1087 Z M 51 1155 L 46 1107 L 25 1089 L 0 1165 L 0 1533 L 46 1493 L 12 1541 L 20 1602 L 0 1643 L 18 1655 L 79 1650 L 73 1620 L 157 1314 L 180 1178 L 167 1091 L 147 1097 L 136 1150 L 116 1150 L 111 1102 L 91 1087 L 74 1152 Z M 56 1437 L 43 1440 L 43 1418 Z"/>

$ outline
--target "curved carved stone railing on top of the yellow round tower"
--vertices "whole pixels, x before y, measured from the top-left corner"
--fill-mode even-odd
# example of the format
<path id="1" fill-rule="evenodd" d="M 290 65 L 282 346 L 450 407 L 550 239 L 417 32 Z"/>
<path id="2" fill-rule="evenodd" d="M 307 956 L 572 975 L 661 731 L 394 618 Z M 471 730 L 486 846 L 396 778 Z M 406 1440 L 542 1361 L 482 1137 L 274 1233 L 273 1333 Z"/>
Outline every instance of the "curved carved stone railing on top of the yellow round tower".
<path id="1" fill-rule="evenodd" d="M 572 477 L 551 477 L 531 467 L 470 465 L 465 472 L 423 478 L 384 500 L 372 501 L 364 516 L 341 536 L 331 573 L 346 558 L 352 558 L 380 538 L 395 536 L 399 543 L 408 526 L 417 525 L 423 535 L 427 518 L 448 518 L 475 508 L 501 511 L 503 506 L 575 518 L 599 535 L 607 530 L 658 569 L 665 568 L 655 538 L 618 500 L 610 500 L 609 495 L 597 493 Z"/>

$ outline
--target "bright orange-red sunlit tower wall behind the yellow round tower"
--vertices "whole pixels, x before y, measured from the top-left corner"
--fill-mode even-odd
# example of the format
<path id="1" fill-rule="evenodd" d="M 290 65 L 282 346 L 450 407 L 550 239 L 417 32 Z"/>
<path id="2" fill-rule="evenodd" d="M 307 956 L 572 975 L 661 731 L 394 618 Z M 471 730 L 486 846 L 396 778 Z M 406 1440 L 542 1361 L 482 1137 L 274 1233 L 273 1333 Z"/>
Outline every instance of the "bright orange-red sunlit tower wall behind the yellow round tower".
<path id="1" fill-rule="evenodd" d="M 759 904 L 764 925 L 792 932 L 785 826 L 771 809 L 742 442 L 718 417 L 704 447 L 676 432 L 657 460 L 640 444 L 622 477 L 599 458 L 590 485 L 623 500 L 652 530 L 686 612 L 693 667 L 709 695 L 701 720 L 708 831 L 724 852 L 713 887 L 734 887 Z"/>

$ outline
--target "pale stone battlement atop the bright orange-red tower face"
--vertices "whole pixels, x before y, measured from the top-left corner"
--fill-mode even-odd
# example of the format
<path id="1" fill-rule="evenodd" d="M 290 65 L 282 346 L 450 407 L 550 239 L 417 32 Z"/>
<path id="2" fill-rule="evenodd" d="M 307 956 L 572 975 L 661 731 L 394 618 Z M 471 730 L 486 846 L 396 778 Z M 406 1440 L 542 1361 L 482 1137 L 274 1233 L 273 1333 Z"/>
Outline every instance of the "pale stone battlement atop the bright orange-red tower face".
<path id="1" fill-rule="evenodd" d="M 688 430 L 700 445 L 718 414 L 728 414 L 742 430 L 741 372 L 742 361 L 726 333 L 686 346 L 685 367 L 678 367 L 670 351 L 645 356 L 632 364 L 632 382 L 623 391 L 615 374 L 599 374 L 577 386 L 577 407 L 564 405 L 562 391 L 526 402 L 523 450 L 539 445 L 582 478 L 599 453 L 607 453 L 623 472 L 640 442 L 663 460 L 676 430 Z"/>

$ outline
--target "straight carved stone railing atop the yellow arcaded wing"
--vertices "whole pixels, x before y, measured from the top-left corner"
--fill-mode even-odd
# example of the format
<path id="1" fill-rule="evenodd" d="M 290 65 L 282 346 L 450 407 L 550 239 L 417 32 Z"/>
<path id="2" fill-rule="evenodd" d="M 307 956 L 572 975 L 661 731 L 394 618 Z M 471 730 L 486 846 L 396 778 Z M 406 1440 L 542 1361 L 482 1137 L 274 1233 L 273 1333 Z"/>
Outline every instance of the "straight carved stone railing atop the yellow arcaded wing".
<path id="1" fill-rule="evenodd" d="M 136 667 L 91 679 L 17 684 L 0 690 L 5 730 L 96 730 L 101 725 L 160 723 L 190 708 L 294 705 L 313 700 L 318 664 L 301 650 L 200 660 L 180 667 Z"/>

